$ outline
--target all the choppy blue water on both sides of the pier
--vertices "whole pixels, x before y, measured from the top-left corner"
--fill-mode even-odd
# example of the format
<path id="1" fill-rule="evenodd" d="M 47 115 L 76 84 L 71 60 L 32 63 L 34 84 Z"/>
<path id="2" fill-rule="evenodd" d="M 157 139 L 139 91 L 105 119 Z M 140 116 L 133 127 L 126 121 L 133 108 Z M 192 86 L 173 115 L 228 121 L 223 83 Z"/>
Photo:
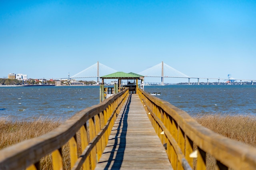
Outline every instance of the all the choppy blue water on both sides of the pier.
<path id="1" fill-rule="evenodd" d="M 146 92 L 198 114 L 256 114 L 256 86 L 145 86 Z M 0 87 L 0 117 L 67 119 L 99 103 L 99 86 Z"/>

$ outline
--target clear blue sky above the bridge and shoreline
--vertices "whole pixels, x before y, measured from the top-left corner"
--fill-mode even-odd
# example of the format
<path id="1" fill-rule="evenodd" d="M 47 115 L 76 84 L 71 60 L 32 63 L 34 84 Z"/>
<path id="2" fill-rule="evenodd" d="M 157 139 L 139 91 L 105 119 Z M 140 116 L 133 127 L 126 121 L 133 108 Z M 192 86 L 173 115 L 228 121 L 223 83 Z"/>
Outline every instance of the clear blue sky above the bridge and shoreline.
<path id="1" fill-rule="evenodd" d="M 0 78 L 164 61 L 191 77 L 256 80 L 255 16 L 255 0 L 1 0 Z"/>

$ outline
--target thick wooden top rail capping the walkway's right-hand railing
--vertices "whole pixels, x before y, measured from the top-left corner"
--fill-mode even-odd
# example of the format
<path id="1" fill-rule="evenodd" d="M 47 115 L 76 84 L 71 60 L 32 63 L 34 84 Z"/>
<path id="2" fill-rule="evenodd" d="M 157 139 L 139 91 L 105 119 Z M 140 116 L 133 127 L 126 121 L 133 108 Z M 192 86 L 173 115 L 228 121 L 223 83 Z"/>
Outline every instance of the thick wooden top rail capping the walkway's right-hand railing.
<path id="1" fill-rule="evenodd" d="M 184 131 L 187 137 L 195 145 L 211 154 L 225 166 L 232 169 L 251 169 L 256 167 L 256 148 L 244 143 L 234 141 L 212 132 L 210 129 L 197 123 L 188 113 L 171 105 L 170 103 L 156 98 L 140 89 L 146 104 L 153 103 L 170 115 L 177 125 Z"/>

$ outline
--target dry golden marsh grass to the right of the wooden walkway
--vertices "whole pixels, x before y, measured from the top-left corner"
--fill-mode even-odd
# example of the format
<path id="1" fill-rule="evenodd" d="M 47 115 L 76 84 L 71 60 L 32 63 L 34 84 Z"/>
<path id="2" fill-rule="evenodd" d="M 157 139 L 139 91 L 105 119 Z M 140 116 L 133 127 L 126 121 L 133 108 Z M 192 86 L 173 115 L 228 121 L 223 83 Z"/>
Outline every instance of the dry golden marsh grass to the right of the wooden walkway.
<path id="1" fill-rule="evenodd" d="M 252 115 L 200 115 L 194 117 L 202 126 L 229 139 L 256 147 L 256 116 Z M 206 169 L 212 170 L 216 160 L 206 154 Z"/>

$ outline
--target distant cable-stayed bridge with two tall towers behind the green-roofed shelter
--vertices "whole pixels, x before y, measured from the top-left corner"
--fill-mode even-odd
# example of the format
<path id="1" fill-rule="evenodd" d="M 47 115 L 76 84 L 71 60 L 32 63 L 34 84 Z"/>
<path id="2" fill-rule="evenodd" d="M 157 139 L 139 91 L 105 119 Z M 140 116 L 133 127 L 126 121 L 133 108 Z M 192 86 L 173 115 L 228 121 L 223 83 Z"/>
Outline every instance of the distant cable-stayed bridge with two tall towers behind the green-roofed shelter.
<path id="1" fill-rule="evenodd" d="M 74 74 L 70 78 L 97 78 L 97 81 L 99 82 L 99 78 L 101 76 L 105 76 L 108 74 L 112 74 L 114 72 L 118 72 L 117 70 L 110 68 L 104 64 L 101 64 L 99 62 L 93 64 L 92 66 L 89 66 L 88 68 L 78 72 L 77 74 Z M 190 84 L 190 79 L 198 79 L 198 85 L 200 84 L 200 79 L 207 79 L 207 84 L 209 84 L 209 79 L 215 79 L 218 80 L 218 84 L 220 84 L 220 80 L 226 80 L 226 78 L 199 78 L 199 77 L 190 77 L 175 68 L 172 68 L 171 66 L 165 64 L 163 61 L 162 63 L 156 64 L 155 66 L 152 66 L 144 71 L 141 71 L 137 74 L 140 74 L 144 77 L 159 77 L 161 78 L 161 84 L 164 85 L 164 78 L 188 78 L 188 84 Z M 237 79 L 240 80 L 240 83 L 242 84 L 242 81 L 253 81 L 256 80 L 244 80 L 244 79 Z"/>

